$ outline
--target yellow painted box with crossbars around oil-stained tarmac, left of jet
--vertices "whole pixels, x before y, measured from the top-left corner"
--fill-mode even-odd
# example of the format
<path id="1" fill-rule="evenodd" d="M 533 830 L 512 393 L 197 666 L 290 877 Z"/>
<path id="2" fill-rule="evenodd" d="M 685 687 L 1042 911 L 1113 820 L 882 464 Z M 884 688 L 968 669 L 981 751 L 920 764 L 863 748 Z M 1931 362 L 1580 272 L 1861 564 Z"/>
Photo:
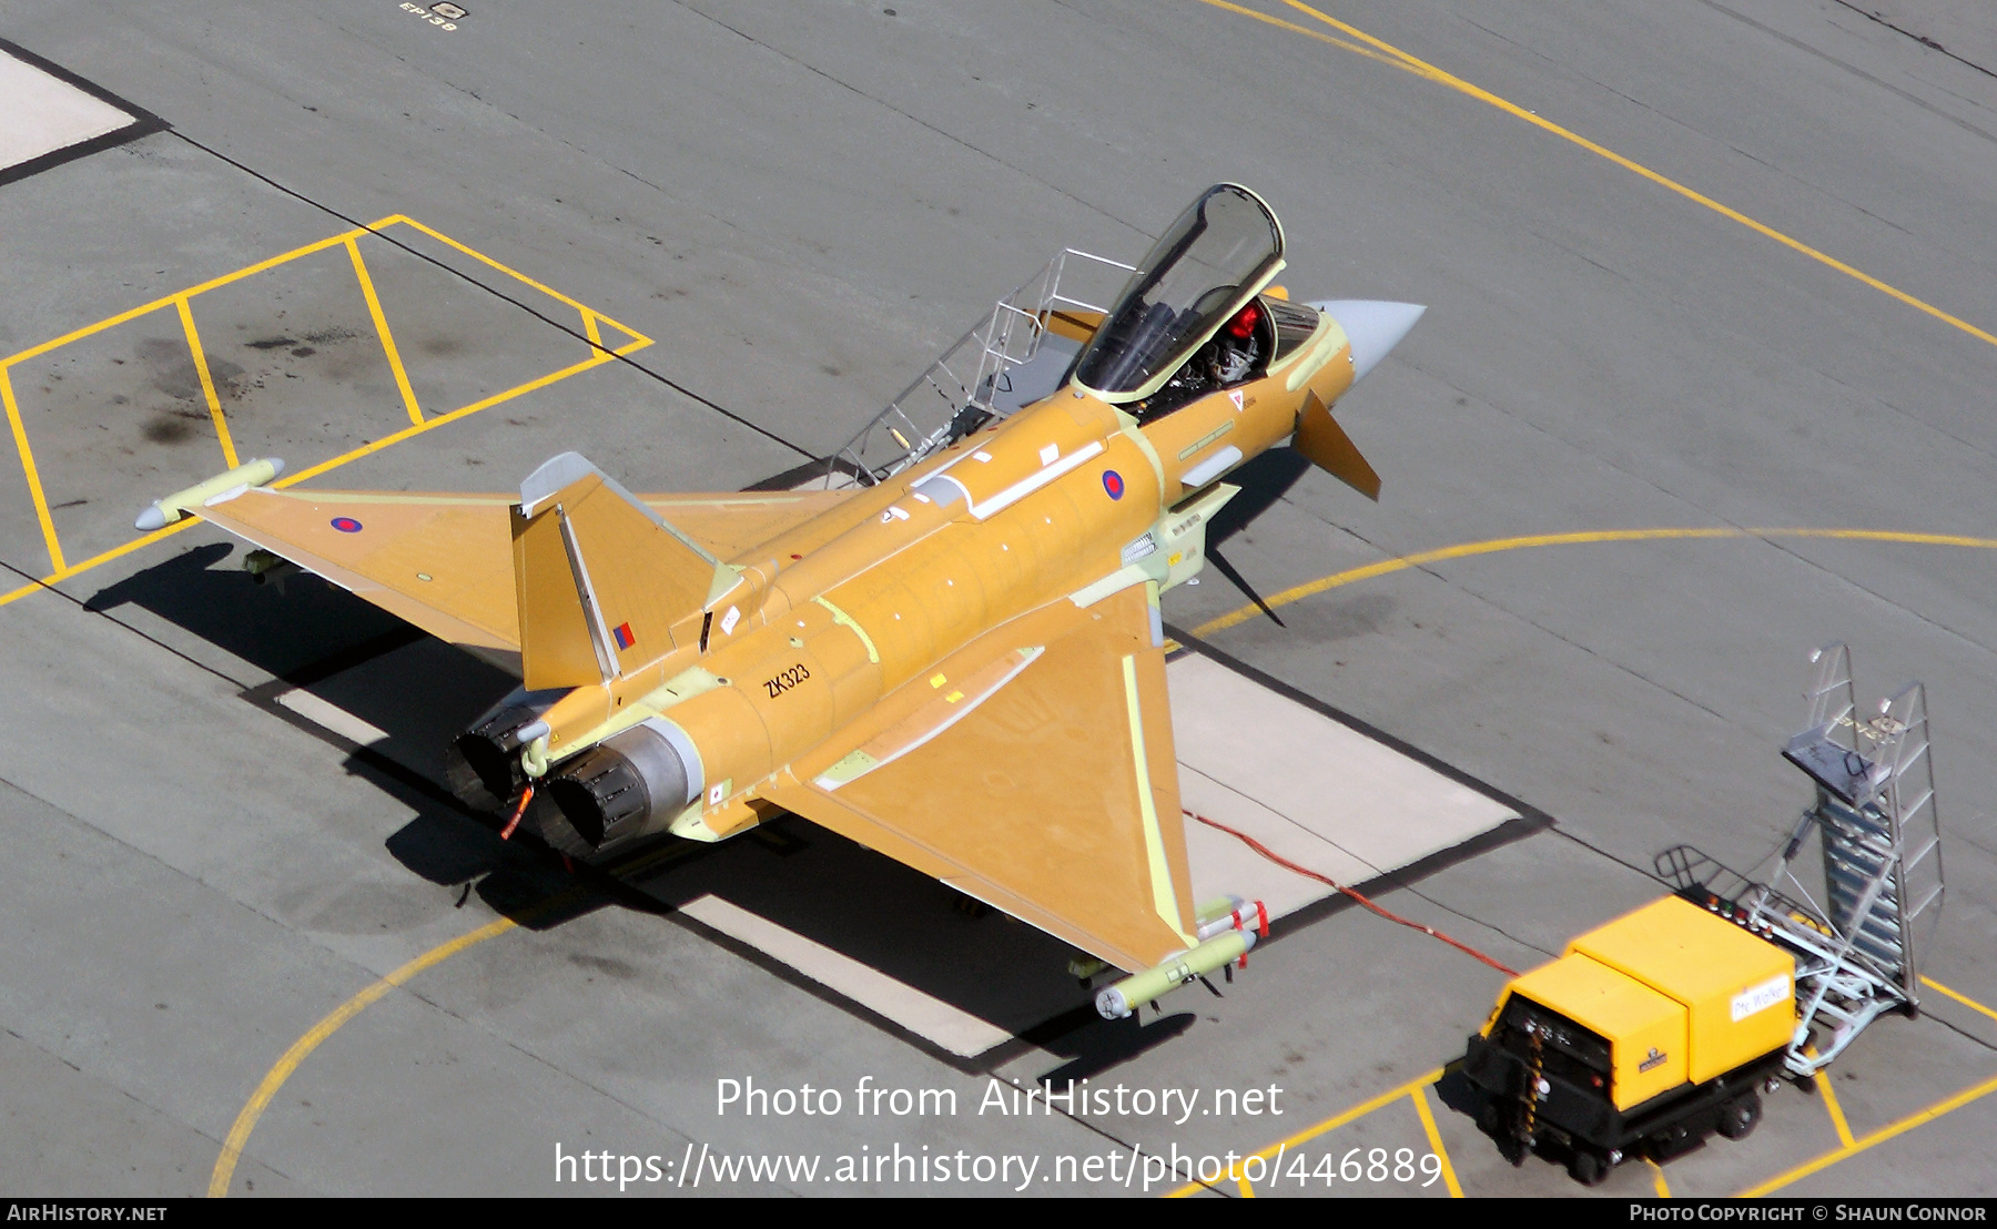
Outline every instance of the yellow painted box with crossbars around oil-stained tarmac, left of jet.
<path id="1" fill-rule="evenodd" d="M 435 417 L 429 417 L 429 419 L 421 417 L 421 409 L 415 403 L 415 393 L 409 387 L 409 377 L 407 377 L 407 373 L 401 367 L 399 353 L 395 351 L 395 341 L 389 335 L 387 317 L 381 313 L 379 297 L 373 293 L 373 281 L 367 275 L 367 267 L 361 261 L 359 249 L 355 245 L 355 241 L 361 235 L 379 233 L 381 229 L 385 229 L 389 225 L 407 225 L 411 229 L 419 229 L 425 235 L 437 239 L 439 243 L 455 247 L 457 251 L 463 251 L 463 253 L 471 255 L 471 257 L 477 257 L 479 261 L 491 265 L 493 269 L 505 273 L 507 277 L 523 281 L 525 285 L 531 285 L 533 289 L 537 289 L 537 291 L 541 291 L 545 295 L 551 295 L 551 297 L 555 297 L 555 299 L 559 299 L 559 301 L 575 307 L 577 311 L 581 311 L 583 325 L 585 325 L 585 331 L 589 335 L 589 345 L 591 345 L 589 357 L 581 359 L 579 363 L 571 363 L 571 365 L 567 365 L 567 367 L 563 367 L 559 371 L 549 371 L 547 375 L 541 375 L 537 379 L 529 379 L 525 383 L 513 385 L 511 389 L 505 389 L 501 393 L 493 393 L 491 397 L 483 397 L 479 401 L 473 401 L 469 405 L 453 409 L 451 413 L 435 415 Z M 326 251 L 328 247 L 339 247 L 339 245 L 345 245 L 349 249 L 349 257 L 353 261 L 353 273 L 359 279 L 361 293 L 367 299 L 367 311 L 373 317 L 375 331 L 381 335 L 381 347 L 387 353 L 389 367 L 395 373 L 395 387 L 401 391 L 403 407 L 409 411 L 409 427 L 403 427 L 401 431 L 395 431 L 393 435 L 387 435 L 383 439 L 375 439 L 371 443 L 365 443 L 365 445 L 361 445 L 357 449 L 349 449 L 349 451 L 345 451 L 345 453 L 341 453 L 341 455 L 337 455 L 337 457 L 333 457 L 330 461 L 322 461 L 322 463 L 312 465 L 308 469 L 290 473 L 290 475 L 284 477 L 284 481 L 276 483 L 278 487 L 292 487 L 292 485 L 302 483 L 302 481 L 306 481 L 310 477 L 318 477 L 322 473 L 337 469 L 337 467 L 341 467 L 341 465 L 345 465 L 349 461 L 357 461 L 357 459 L 367 457 L 371 453 L 379 453 L 381 449 L 385 449 L 389 445 L 395 445 L 395 443 L 401 443 L 405 439 L 411 439 L 415 435 L 421 435 L 423 431 L 431 431 L 435 427 L 443 427 L 445 423 L 455 423 L 457 419 L 475 415 L 481 409 L 491 409 L 493 405 L 499 405 L 501 401 L 511 401 L 513 397 L 531 393 L 535 389 L 543 389 L 543 387 L 547 387 L 547 385 L 551 385 L 551 383 L 555 383 L 559 379 L 567 379 L 571 375 L 579 375 L 579 373 L 583 373 L 583 371 L 587 371 L 591 367 L 601 367 L 603 363 L 621 359 L 621 357 L 625 357 L 625 355 L 629 355 L 633 351 L 639 351 L 639 349 L 645 349 L 647 345 L 651 345 L 651 337 L 639 333 L 637 329 L 633 329 L 633 327 L 629 327 L 625 323 L 619 323 L 617 319 L 613 319 L 609 315 L 603 315 L 601 311 L 585 307 L 585 305 L 577 303 L 575 299 L 571 299 L 569 295 L 563 295 L 563 293 L 559 293 L 555 289 L 549 289 L 547 285 L 541 285 L 533 277 L 527 277 L 525 273 L 509 269 L 507 265 L 503 265 L 503 263 L 499 263 L 499 261 L 495 261 L 495 259 L 479 253 L 479 251 L 475 251 L 471 247 L 465 247 L 457 239 L 453 239 L 453 237 L 449 237 L 449 235 L 445 235 L 441 231 L 433 231 L 427 225 L 423 225 L 421 221 L 415 221 L 413 217 L 405 217 L 401 213 L 391 213 L 391 215 L 375 219 L 375 221 L 371 221 L 371 223 L 367 223 L 363 227 L 341 231 L 337 235 L 328 235 L 328 237 L 318 239 L 314 243 L 306 243 L 304 247 L 294 247 L 290 251 L 282 251 L 282 253 L 272 255 L 268 259 L 260 259 L 254 265 L 246 265 L 242 269 L 236 269 L 234 273 L 224 273 L 220 277 L 210 277 L 208 281 L 202 281 L 198 285 L 190 285 L 188 289 L 176 291 L 172 295 L 158 297 L 158 299 L 154 299 L 150 303 L 142 303 L 138 307 L 132 307 L 130 311 L 120 311 L 118 315 L 110 315 L 110 317 L 100 319 L 100 321 L 96 321 L 92 325 L 84 325 L 80 329 L 72 329 L 72 331 L 64 333 L 62 337 L 54 337 L 54 339 L 44 341 L 40 345 L 32 345 L 32 347 L 28 347 L 28 349 L 24 349 L 24 351 L 20 351 L 16 355 L 8 355 L 6 359 L 0 359 L 0 405 L 4 405 L 4 409 L 6 409 L 8 427 L 14 433 L 14 447 L 20 453 L 20 467 L 22 467 L 24 477 L 28 479 L 28 495 L 34 499 L 34 513 L 36 513 L 36 519 L 42 525 L 42 541 L 48 547 L 48 567 L 50 567 L 50 571 L 46 575 L 42 575 L 40 579 L 30 581 L 28 585 L 20 585 L 18 589 L 10 589 L 6 593 L 0 593 L 0 607 L 6 607 L 8 603 L 16 603 L 16 601 L 28 597 L 30 593 L 40 593 L 40 591 L 48 589 L 50 585 L 58 585 L 62 581 L 68 581 L 68 579 L 78 577 L 82 573 L 88 573 L 94 567 L 100 567 L 104 563 L 110 563 L 110 561 L 120 559 L 124 555 L 130 555 L 132 551 L 138 551 L 140 547 L 148 547 L 148 545 L 152 545 L 152 543 L 156 543 L 156 541 L 160 541 L 160 539 L 164 539 L 168 535 L 180 533 L 180 531 L 184 531 L 184 529 L 188 529 L 188 527 L 192 527 L 192 525 L 198 523 L 198 519 L 182 519 L 182 521 L 178 521 L 174 525 L 168 525 L 166 529 L 160 529 L 160 531 L 136 537 L 130 543 L 124 543 L 124 545 L 114 547 L 110 551 L 102 551 L 98 555 L 92 555 L 90 559 L 84 559 L 82 563 L 68 563 L 68 559 L 62 553 L 62 541 L 56 537 L 54 519 L 48 513 L 48 495 L 42 491 L 42 477 L 40 477 L 40 471 L 36 469 L 36 463 L 34 463 L 34 447 L 28 443 L 28 429 L 22 423 L 20 405 L 14 401 L 14 385 L 12 385 L 10 377 L 8 377 L 8 367 L 12 367 L 14 363 L 22 363 L 26 359 L 34 359 L 34 357 L 44 355 L 44 353 L 50 353 L 54 349 L 60 349 L 60 347 L 64 347 L 64 345 L 68 345 L 72 341 L 82 339 L 82 337 L 90 337 L 94 333 L 102 333 L 104 329 L 110 329 L 110 327 L 122 325 L 126 321 L 138 319 L 138 317 L 142 317 L 142 315 L 146 315 L 150 311 L 160 311 L 164 307 L 174 307 L 180 313 L 182 329 L 188 335 L 188 347 L 190 347 L 190 351 L 194 355 L 194 367 L 196 367 L 196 371 L 200 371 L 200 377 L 202 377 L 202 393 L 208 397 L 208 413 L 216 421 L 216 435 L 222 441 L 222 455 L 228 461 L 228 467 L 234 469 L 238 465 L 236 441 L 230 437 L 228 421 L 222 415 L 222 403 L 220 403 L 220 397 L 216 395 L 214 377 L 208 371 L 208 355 L 202 349 L 200 331 L 194 327 L 194 313 L 192 313 L 192 307 L 190 307 L 190 299 L 194 299 L 200 293 L 212 291 L 216 287 L 230 285 L 232 281 L 242 281 L 244 277 L 250 277 L 254 273 L 262 273 L 266 269 L 274 269 L 274 267 L 278 267 L 278 265 L 282 265 L 286 261 L 294 261 L 294 259 L 312 255 L 316 251 Z M 619 345 L 615 349 L 605 347 L 603 345 L 603 333 L 601 333 L 599 321 L 601 323 L 609 323 L 611 327 L 623 331 L 625 335 L 631 337 L 631 341 L 627 341 L 627 343 L 623 343 L 623 345 Z"/>

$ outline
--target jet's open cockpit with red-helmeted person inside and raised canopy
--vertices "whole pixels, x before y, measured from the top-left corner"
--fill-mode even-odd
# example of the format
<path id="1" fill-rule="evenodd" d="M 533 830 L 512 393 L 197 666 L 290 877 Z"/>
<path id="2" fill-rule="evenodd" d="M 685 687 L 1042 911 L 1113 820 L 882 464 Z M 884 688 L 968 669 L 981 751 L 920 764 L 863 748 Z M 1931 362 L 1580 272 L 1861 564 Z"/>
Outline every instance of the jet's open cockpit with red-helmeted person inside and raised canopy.
<path id="1" fill-rule="evenodd" d="M 1208 188 L 1130 273 L 1070 379 L 1140 423 L 1256 379 L 1278 329 L 1298 323 L 1258 297 L 1282 265 L 1282 223 L 1262 198 Z"/>

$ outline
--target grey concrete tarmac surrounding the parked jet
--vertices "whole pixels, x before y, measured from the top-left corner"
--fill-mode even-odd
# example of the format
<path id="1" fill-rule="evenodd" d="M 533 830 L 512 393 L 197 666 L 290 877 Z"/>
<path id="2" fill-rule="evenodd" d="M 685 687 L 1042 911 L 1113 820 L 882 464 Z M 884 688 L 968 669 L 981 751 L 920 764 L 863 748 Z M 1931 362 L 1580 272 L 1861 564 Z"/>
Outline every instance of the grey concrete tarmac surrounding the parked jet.
<path id="1" fill-rule="evenodd" d="M 312 579 L 256 587 L 206 527 L 118 553 L 224 467 L 216 419 L 244 457 L 355 453 L 333 487 L 505 491 L 563 449 L 639 491 L 761 481 L 1058 247 L 1134 259 L 1238 180 L 1286 223 L 1296 297 L 1430 311 L 1340 409 L 1382 501 L 1270 461 L 1220 555 L 1274 601 L 1518 541 L 1282 626 L 1200 630 L 1246 603 L 1208 569 L 1166 618 L 1554 818 L 1380 894 L 1514 968 L 1654 898 L 1665 846 L 1747 868 L 1787 832 L 1811 648 L 1853 646 L 1861 700 L 1923 678 L 1949 880 L 1925 968 L 1961 998 L 1875 1025 L 1751 1139 L 1602 1191 L 1997 1193 L 1997 1097 L 1959 1095 L 1997 1087 L 1997 62 L 1973 4 L 467 8 L 0 0 L 0 38 L 170 124 L 0 182 L 0 359 L 44 487 L 38 509 L 0 457 L 0 1187 L 204 1193 L 264 1089 L 232 1195 L 617 1193 L 557 1163 L 581 1151 L 659 1157 L 625 1195 L 1142 1193 L 1130 1157 L 1252 1153 L 1410 1085 L 1256 1193 L 1582 1193 L 1422 1091 L 1504 976 L 1414 930 L 1316 916 L 1226 998 L 1106 1025 L 1060 944 L 795 820 L 569 876 L 435 786 L 501 674 Z M 1727 537 L 1544 541 L 1630 529 Z M 298 718 L 274 700 L 296 686 L 387 742 Z M 673 910 L 717 890 L 1016 1041 L 963 1061 Z M 1204 1099 L 987 1103 L 1070 1077 Z M 843 1103 L 749 1117 L 729 1079 Z M 863 1089 L 933 1095 L 861 1113 Z M 1336 1175 L 1376 1147 L 1384 1177 Z M 1448 1181 L 1396 1175 L 1438 1147 Z M 895 1149 L 1040 1167 L 915 1181 Z M 717 1179 L 703 1153 L 825 1169 Z"/>

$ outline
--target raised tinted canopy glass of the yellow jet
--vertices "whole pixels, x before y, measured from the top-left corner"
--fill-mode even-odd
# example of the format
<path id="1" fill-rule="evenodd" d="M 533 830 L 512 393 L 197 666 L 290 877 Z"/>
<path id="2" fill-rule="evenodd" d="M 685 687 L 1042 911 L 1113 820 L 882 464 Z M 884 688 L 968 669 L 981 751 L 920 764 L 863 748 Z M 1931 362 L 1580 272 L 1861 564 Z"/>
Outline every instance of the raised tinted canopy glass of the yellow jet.
<path id="1" fill-rule="evenodd" d="M 1088 347 L 1074 381 L 1112 401 L 1148 395 L 1282 267 L 1282 225 L 1258 196 L 1216 184 L 1164 231 Z"/>

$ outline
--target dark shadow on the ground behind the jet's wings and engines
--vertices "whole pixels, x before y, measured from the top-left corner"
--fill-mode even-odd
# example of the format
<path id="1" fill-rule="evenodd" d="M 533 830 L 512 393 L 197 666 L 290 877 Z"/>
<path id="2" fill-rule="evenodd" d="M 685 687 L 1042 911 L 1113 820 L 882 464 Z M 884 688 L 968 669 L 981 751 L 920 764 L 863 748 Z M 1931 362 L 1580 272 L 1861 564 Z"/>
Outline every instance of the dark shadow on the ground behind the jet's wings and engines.
<path id="1" fill-rule="evenodd" d="M 1090 992 L 1066 972 L 1072 948 L 795 816 L 717 846 L 655 838 L 647 848 L 617 854 L 611 870 L 643 864 L 627 878 L 563 866 L 525 830 L 501 842 L 501 816 L 473 812 L 445 788 L 443 750 L 515 678 L 318 577 L 290 575 L 282 591 L 256 585 L 248 573 L 224 565 L 228 555 L 228 545 L 182 553 L 98 591 L 86 607 L 144 609 L 272 674 L 274 682 L 250 688 L 244 698 L 345 746 L 353 774 L 415 812 L 389 836 L 387 852 L 413 874 L 459 890 L 459 900 L 475 890 L 495 912 L 547 930 L 609 904 L 665 914 L 699 896 L 717 896 L 1016 1037 L 979 1059 L 963 1059 L 911 1035 L 967 1069 L 985 1069 L 1034 1045 L 1068 1059 L 1058 1079 L 1080 1079 L 1194 1022 L 1192 1016 L 1156 1020 L 1148 1008 L 1140 1012 L 1146 1024 L 1100 1020 Z M 300 712 L 292 692 L 308 692 L 381 736 L 361 742 L 351 728 L 330 730 Z M 773 958 L 745 954 L 845 1004 Z"/>

